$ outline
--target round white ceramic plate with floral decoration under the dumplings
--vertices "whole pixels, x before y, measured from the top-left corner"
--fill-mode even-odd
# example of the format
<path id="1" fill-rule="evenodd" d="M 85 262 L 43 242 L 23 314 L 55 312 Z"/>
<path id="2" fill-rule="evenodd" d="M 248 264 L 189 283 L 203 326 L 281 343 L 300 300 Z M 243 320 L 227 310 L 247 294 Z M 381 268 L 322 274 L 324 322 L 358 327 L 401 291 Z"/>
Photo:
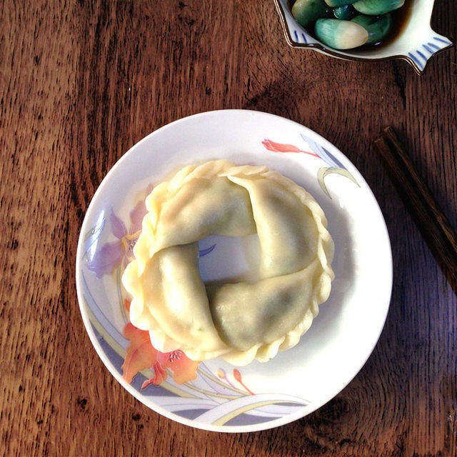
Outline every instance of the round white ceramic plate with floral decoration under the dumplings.
<path id="1" fill-rule="evenodd" d="M 123 336 L 127 319 L 120 277 L 137 236 L 139 214 L 131 211 L 139 209 L 151 185 L 181 166 L 211 159 L 266 165 L 314 196 L 336 245 L 331 296 L 300 343 L 268 363 L 236 368 L 216 358 L 201 362 L 196 378 L 184 384 L 176 383 L 164 368 L 166 381 L 142 389 L 144 381 L 154 377 L 153 367 L 141 371 L 131 384 L 121 371 L 129 341 Z M 200 245 L 204 279 L 246 268 L 241 241 L 206 238 Z M 281 426 L 336 396 L 378 341 L 391 285 L 386 224 L 361 174 L 318 134 L 258 111 L 197 114 L 164 126 L 133 146 L 96 191 L 76 258 L 81 314 L 109 371 L 154 411 L 213 431 Z"/>

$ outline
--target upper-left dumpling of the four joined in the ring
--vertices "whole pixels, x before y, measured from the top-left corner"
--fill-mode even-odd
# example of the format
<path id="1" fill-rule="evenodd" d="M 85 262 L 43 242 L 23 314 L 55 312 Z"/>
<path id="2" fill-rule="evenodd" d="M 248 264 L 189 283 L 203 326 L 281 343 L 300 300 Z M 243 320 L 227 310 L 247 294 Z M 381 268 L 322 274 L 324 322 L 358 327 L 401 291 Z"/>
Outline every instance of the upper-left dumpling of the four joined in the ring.
<path id="1" fill-rule="evenodd" d="M 154 253 L 169 246 L 193 243 L 209 235 L 245 236 L 256 232 L 248 192 L 217 176 L 225 161 L 187 166 L 169 183 L 157 186 L 146 199 L 141 236 L 135 255 L 140 271 Z M 210 163 L 211 164 L 211 163 Z M 208 178 L 208 170 L 216 173 Z M 223 170 L 224 168 L 222 168 Z"/>

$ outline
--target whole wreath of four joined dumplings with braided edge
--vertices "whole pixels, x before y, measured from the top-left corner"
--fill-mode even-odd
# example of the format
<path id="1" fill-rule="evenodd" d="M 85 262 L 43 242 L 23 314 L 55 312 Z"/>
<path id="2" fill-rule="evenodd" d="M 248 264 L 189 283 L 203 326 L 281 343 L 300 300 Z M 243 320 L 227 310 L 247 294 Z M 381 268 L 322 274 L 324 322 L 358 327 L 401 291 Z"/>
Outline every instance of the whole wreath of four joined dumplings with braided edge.
<path id="1" fill-rule="evenodd" d="M 159 351 L 268 361 L 298 343 L 331 290 L 333 241 L 303 188 L 261 166 L 186 166 L 146 199 L 134 260 L 122 281 L 131 322 Z M 259 281 L 205 285 L 198 243 L 257 233 Z"/>

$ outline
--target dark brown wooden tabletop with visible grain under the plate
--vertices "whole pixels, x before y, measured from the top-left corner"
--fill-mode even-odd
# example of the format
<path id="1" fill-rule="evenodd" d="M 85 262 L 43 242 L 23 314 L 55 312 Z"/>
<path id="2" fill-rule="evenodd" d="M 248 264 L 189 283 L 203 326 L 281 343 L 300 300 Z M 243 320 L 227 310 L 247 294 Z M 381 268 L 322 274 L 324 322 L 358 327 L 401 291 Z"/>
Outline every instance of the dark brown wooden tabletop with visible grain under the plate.
<path id="1" fill-rule="evenodd" d="M 456 36 L 453 2 L 432 25 Z M 403 138 L 457 226 L 456 48 L 419 77 L 286 44 L 273 0 L 0 5 L 1 456 L 456 456 L 457 301 L 371 146 Z M 386 326 L 358 376 L 280 428 L 221 434 L 136 401 L 104 367 L 75 288 L 81 223 L 111 166 L 183 116 L 268 111 L 325 136 L 378 199 Z"/>

